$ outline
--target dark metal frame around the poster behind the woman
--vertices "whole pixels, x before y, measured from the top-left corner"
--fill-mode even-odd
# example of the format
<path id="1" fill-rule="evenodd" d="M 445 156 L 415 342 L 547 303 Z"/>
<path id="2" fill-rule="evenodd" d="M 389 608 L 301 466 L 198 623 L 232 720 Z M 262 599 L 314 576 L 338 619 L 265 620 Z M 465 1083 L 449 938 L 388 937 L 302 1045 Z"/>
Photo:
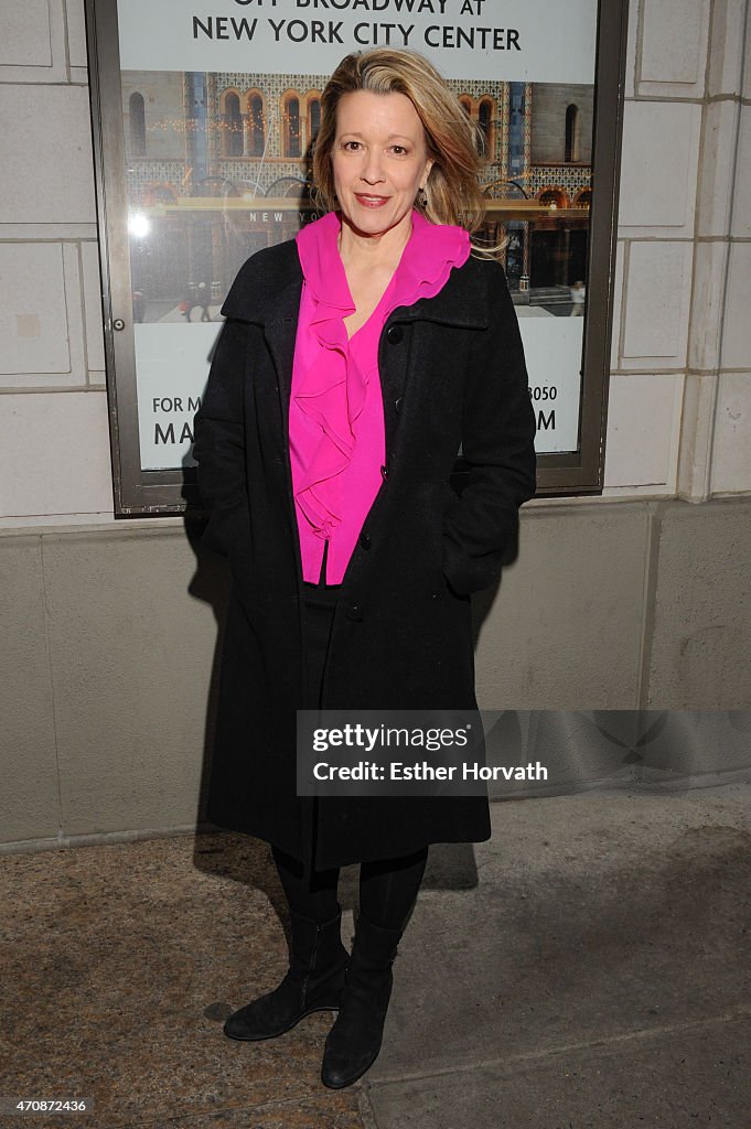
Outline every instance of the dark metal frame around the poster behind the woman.
<path id="1" fill-rule="evenodd" d="M 86 0 L 86 23 L 114 513 L 175 515 L 198 502 L 195 469 L 148 471 L 140 465 L 116 0 Z M 584 326 L 580 444 L 577 452 L 539 455 L 539 497 L 584 497 L 603 488 L 627 27 L 628 0 L 599 0 L 592 151 L 597 187 L 590 211 L 587 273 L 587 294 L 594 298 L 587 300 Z M 254 93 L 241 96 L 241 113 L 244 105 L 250 113 Z M 298 99 L 300 124 L 300 157 L 286 159 L 302 160 L 307 104 L 297 90 L 283 96 L 285 106 L 288 98 Z M 606 128 L 599 128 L 602 121 Z M 264 124 L 268 142 L 268 119 Z"/>

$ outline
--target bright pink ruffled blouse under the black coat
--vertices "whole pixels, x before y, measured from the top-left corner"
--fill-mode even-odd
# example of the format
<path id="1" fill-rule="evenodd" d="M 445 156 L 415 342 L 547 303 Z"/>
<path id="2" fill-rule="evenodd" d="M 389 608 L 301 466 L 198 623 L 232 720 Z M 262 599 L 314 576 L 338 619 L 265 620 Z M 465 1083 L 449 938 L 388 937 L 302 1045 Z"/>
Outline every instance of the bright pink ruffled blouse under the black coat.
<path id="1" fill-rule="evenodd" d="M 289 402 L 289 455 L 303 579 L 341 584 L 385 462 L 378 342 L 396 306 L 433 298 L 453 266 L 470 254 L 461 227 L 430 224 L 412 212 L 412 234 L 381 301 L 351 338 L 355 312 L 339 255 L 337 212 L 300 229 L 297 252 L 304 285 Z"/>

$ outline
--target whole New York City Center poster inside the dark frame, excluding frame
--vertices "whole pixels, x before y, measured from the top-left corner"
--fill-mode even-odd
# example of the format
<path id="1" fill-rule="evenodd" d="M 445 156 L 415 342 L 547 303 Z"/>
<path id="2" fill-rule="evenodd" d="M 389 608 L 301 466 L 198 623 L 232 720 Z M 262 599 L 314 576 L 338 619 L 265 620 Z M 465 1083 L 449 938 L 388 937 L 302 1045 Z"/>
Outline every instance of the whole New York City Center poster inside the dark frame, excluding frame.
<path id="1" fill-rule="evenodd" d="M 321 91 L 377 45 L 429 58 L 483 134 L 482 234 L 503 244 L 538 452 L 576 452 L 596 25 L 596 0 L 119 0 L 141 469 L 192 465 L 222 300 L 317 217 Z"/>

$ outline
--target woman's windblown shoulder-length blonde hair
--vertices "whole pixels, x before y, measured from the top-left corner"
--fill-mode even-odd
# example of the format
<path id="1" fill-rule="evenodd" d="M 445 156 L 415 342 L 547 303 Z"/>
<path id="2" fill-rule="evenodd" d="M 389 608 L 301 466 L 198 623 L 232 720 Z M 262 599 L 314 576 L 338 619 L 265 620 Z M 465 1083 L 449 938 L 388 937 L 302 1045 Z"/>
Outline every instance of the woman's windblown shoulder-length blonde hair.
<path id="1" fill-rule="evenodd" d="M 331 164 L 337 107 L 342 95 L 356 90 L 407 95 L 422 122 L 428 156 L 434 161 L 414 207 L 433 224 L 454 224 L 477 231 L 484 216 L 484 196 L 478 184 L 482 133 L 435 67 L 413 51 L 375 47 L 347 55 L 326 82 L 313 150 L 316 205 L 324 211 L 337 207 Z"/>

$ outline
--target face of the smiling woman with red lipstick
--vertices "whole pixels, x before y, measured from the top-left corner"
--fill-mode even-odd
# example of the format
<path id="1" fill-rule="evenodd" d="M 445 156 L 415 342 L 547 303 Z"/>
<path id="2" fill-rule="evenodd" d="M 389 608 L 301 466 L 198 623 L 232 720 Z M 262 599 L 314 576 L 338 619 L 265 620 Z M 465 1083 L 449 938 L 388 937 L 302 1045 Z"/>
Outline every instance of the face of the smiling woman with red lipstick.
<path id="1" fill-rule="evenodd" d="M 433 160 L 407 95 L 342 95 L 332 167 L 339 205 L 358 234 L 374 237 L 408 226 Z"/>

